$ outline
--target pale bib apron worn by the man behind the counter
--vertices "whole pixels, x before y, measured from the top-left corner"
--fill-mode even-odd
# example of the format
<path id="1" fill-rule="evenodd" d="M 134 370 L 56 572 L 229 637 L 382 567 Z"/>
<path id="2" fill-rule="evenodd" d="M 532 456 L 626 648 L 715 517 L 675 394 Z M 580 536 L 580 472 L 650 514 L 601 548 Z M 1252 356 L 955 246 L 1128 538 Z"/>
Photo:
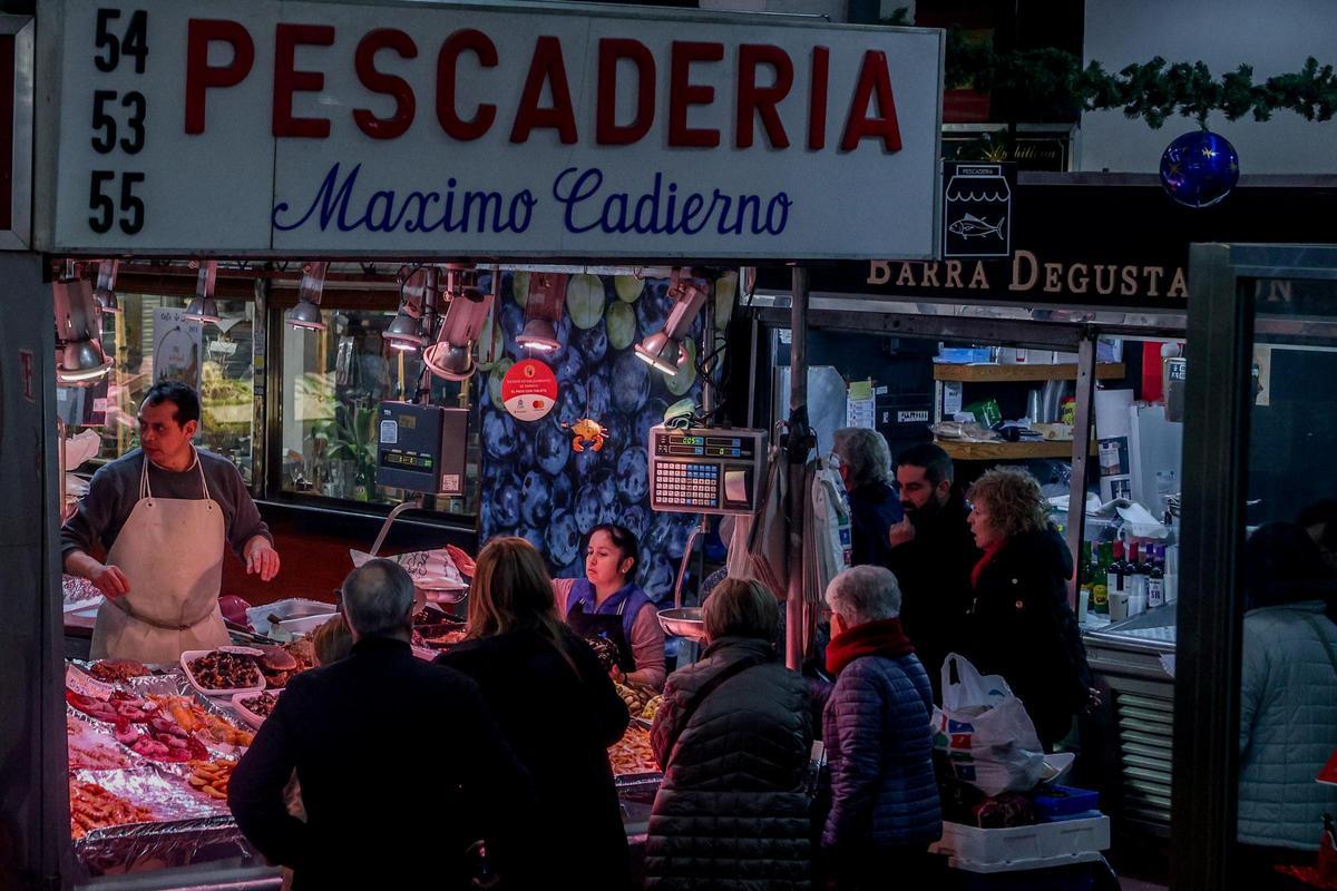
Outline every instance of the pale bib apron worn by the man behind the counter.
<path id="1" fill-rule="evenodd" d="M 92 659 L 174 663 L 187 649 L 229 643 L 218 589 L 223 577 L 223 509 L 209 497 L 205 468 L 201 498 L 155 498 L 148 456 L 139 476 L 139 501 L 107 553 L 130 580 L 130 593 L 108 598 L 92 629 Z"/>

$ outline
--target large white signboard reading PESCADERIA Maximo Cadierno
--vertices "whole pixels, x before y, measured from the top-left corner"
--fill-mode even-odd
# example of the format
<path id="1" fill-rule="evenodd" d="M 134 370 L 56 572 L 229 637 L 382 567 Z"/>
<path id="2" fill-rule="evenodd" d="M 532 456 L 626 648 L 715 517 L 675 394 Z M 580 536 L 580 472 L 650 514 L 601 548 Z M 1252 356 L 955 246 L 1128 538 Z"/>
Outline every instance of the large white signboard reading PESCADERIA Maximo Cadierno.
<path id="1" fill-rule="evenodd" d="M 279 0 L 41 15 L 45 250 L 936 255 L 939 31 Z"/>

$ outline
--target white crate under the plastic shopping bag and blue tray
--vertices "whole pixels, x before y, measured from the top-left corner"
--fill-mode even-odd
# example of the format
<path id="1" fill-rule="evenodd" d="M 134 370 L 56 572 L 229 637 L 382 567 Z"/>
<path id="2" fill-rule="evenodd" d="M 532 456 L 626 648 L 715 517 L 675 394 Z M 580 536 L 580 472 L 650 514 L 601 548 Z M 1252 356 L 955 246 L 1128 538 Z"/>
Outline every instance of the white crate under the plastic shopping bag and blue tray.
<path id="1" fill-rule="evenodd" d="M 929 850 L 975 864 L 1044 860 L 1110 847 L 1110 818 L 981 830 L 943 822 L 943 838 Z M 1021 868 L 1021 867 L 1019 867 Z"/>

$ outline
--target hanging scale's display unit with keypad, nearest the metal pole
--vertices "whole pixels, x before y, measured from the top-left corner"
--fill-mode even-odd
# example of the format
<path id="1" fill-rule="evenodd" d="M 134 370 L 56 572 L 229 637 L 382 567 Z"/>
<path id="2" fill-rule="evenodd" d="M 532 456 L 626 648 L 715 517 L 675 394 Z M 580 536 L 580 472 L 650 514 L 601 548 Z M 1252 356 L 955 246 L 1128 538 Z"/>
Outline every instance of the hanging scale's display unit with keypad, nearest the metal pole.
<path id="1" fill-rule="evenodd" d="M 648 450 L 652 510 L 757 509 L 765 476 L 765 430 L 651 427 Z"/>

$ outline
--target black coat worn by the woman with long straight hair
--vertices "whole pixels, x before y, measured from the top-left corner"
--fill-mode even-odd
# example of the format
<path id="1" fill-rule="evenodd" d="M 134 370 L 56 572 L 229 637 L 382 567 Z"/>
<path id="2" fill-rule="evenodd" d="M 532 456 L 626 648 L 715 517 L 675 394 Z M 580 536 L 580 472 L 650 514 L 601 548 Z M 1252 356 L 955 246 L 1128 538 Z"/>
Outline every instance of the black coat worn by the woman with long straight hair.
<path id="1" fill-rule="evenodd" d="M 477 681 L 537 793 L 539 831 L 525 851 L 540 888 L 624 890 L 631 884 L 627 831 L 608 747 L 631 717 L 590 645 L 566 637 L 579 676 L 537 632 L 468 641 L 437 663 Z"/>

